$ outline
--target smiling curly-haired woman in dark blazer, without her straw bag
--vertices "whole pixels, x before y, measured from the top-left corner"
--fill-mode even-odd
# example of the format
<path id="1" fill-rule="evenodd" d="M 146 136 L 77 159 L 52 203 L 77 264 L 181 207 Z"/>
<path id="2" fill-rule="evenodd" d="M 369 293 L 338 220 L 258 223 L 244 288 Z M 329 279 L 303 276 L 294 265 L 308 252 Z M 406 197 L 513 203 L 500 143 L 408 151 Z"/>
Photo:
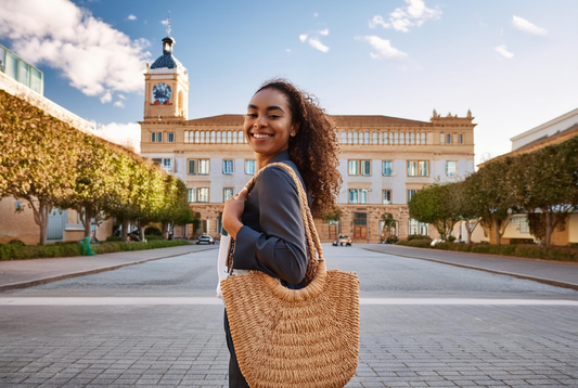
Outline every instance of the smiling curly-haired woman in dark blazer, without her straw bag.
<path id="1" fill-rule="evenodd" d="M 342 177 L 335 126 L 317 100 L 284 79 L 266 82 L 251 99 L 245 138 L 257 168 L 282 161 L 300 179 L 313 217 L 333 210 Z M 264 170 L 251 195 L 243 189 L 227 201 L 224 230 L 234 238 L 233 268 L 259 270 L 286 287 L 301 288 L 307 270 L 307 241 L 295 182 L 283 168 Z M 224 312 L 229 387 L 248 387 L 234 352 Z"/>

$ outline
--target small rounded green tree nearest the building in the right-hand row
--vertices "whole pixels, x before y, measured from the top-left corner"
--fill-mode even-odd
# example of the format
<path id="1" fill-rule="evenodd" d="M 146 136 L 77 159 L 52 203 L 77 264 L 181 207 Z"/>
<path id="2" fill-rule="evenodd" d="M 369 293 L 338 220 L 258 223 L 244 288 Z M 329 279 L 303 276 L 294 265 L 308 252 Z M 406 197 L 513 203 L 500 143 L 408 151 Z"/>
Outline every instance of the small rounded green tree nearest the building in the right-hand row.
<path id="1" fill-rule="evenodd" d="M 410 203 L 410 217 L 433 224 L 442 240 L 451 235 L 453 227 L 460 221 L 458 206 L 450 184 L 434 183 L 415 193 Z"/>

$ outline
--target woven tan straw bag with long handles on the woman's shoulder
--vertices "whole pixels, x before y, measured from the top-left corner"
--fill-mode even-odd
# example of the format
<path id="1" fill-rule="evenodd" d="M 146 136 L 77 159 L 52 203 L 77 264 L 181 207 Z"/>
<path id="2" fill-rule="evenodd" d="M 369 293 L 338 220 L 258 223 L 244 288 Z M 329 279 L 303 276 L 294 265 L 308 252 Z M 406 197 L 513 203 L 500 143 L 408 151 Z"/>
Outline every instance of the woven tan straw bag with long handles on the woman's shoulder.
<path id="1" fill-rule="evenodd" d="M 272 166 L 287 170 L 297 185 L 310 279 L 306 275 L 301 289 L 288 289 L 260 271 L 221 282 L 239 366 L 252 388 L 344 387 L 359 358 L 359 279 L 326 270 L 307 196 L 290 166 L 265 166 L 247 189 Z"/>

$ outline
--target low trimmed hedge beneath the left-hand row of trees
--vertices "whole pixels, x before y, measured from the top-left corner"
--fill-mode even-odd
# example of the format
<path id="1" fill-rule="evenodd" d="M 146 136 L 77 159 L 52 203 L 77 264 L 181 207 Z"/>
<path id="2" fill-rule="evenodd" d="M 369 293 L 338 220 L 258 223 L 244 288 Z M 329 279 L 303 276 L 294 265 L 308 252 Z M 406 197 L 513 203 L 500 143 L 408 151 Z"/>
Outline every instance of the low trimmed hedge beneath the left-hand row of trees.
<path id="1" fill-rule="evenodd" d="M 151 241 L 149 243 L 111 242 L 91 245 L 95 254 L 112 254 L 115 251 L 144 250 L 167 248 L 179 245 L 190 245 L 184 240 Z M 53 245 L 0 245 L 0 260 L 38 259 L 51 257 L 81 256 L 82 247 L 79 243 L 62 243 Z"/>

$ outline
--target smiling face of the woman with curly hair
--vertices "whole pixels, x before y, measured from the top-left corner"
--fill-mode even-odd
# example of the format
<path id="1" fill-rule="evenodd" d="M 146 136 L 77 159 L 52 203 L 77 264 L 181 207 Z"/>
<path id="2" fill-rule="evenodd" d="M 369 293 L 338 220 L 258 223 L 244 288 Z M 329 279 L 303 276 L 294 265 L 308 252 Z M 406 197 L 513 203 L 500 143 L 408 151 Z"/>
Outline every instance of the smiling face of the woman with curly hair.
<path id="1" fill-rule="evenodd" d="M 251 99 L 244 131 L 255 153 L 272 157 L 287 150 L 291 133 L 296 133 L 296 128 L 287 99 L 279 90 L 264 89 Z"/>

